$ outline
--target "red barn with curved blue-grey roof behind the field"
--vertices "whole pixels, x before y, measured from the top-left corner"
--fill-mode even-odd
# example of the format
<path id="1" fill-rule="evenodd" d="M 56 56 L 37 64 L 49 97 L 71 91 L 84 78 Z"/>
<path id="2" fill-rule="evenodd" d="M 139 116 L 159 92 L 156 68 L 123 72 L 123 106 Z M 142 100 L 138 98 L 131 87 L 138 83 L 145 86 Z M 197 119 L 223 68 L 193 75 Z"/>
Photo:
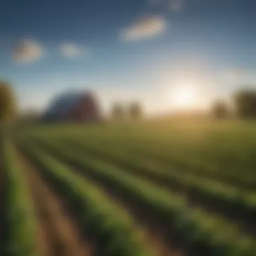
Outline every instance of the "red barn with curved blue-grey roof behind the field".
<path id="1" fill-rule="evenodd" d="M 42 121 L 97 123 L 102 121 L 102 113 L 92 92 L 68 92 L 53 100 Z"/>

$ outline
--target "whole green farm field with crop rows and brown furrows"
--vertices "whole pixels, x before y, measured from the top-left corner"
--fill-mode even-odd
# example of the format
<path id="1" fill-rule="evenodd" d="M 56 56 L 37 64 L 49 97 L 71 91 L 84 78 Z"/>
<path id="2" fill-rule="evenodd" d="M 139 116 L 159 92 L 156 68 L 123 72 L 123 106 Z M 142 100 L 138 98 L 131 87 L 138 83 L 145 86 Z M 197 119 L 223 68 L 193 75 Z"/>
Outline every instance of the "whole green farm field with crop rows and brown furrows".
<path id="1" fill-rule="evenodd" d="M 1 255 L 256 255 L 256 123 L 22 129 Z"/>

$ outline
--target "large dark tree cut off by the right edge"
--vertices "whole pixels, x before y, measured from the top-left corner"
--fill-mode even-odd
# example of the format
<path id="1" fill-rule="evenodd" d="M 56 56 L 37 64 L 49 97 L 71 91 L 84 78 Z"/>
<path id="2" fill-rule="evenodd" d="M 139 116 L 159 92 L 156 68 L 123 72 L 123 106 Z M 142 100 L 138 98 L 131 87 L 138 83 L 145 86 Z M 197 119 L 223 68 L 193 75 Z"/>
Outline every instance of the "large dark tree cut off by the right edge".
<path id="1" fill-rule="evenodd" d="M 243 119 L 256 118 L 256 90 L 241 90 L 234 94 L 236 115 Z"/>

